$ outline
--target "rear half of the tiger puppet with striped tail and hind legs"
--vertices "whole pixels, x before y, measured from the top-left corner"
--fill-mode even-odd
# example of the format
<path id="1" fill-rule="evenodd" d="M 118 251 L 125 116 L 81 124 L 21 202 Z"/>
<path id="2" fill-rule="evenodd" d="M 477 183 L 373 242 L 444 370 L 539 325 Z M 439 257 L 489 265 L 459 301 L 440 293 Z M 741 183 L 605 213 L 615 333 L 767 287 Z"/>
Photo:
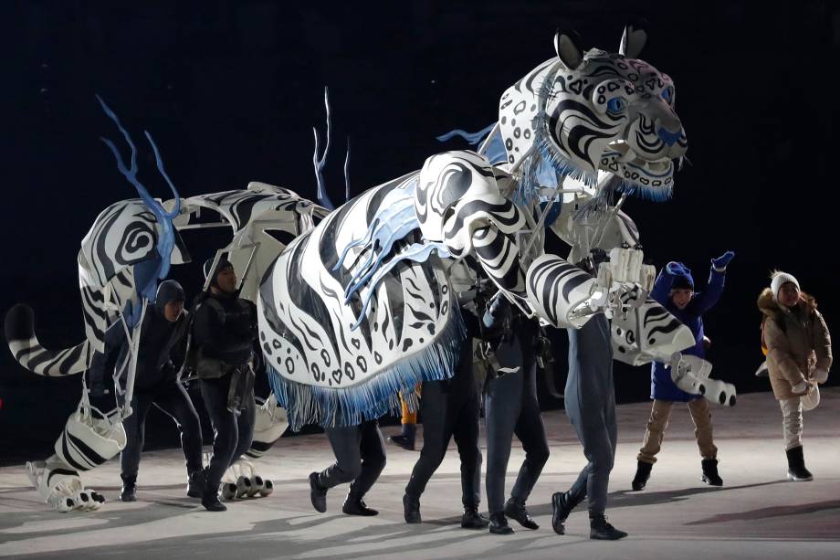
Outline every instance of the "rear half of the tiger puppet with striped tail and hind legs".
<path id="1" fill-rule="evenodd" d="M 162 203 L 152 198 L 137 179 L 136 147 L 117 116 L 100 102 L 129 144 L 131 163 L 124 164 L 114 144 L 105 142 L 114 153 L 121 174 L 142 198 L 124 200 L 106 208 L 82 240 L 78 263 L 84 341 L 71 348 L 50 350 L 37 339 L 31 308 L 18 304 L 6 314 L 9 349 L 20 365 L 37 375 L 86 372 L 94 354 L 104 349 L 104 333 L 116 322 L 121 322 L 129 334 L 129 356 L 136 354 L 138 325 L 142 323 L 146 302 L 153 301 L 158 280 L 166 278 L 171 264 L 190 260 L 178 230 L 230 227 L 234 237 L 220 252 L 228 254 L 234 265 L 245 271 L 241 296 L 253 301 L 261 274 L 285 248 L 288 239 L 311 229 L 327 214 L 324 208 L 288 189 L 257 182 L 248 185 L 247 190 L 182 199 L 165 174 L 157 147 L 147 133 L 158 170 L 173 190 L 174 198 Z M 194 219 L 202 209 L 215 212 L 221 221 L 206 223 Z M 121 386 L 120 376 L 115 375 L 115 391 L 123 397 L 123 402 L 131 403 L 133 365 L 131 359 L 126 362 L 118 367 L 120 372 L 128 372 L 126 383 Z M 124 448 L 126 434 L 122 420 L 131 415 L 131 407 L 119 406 L 116 399 L 106 409 L 93 407 L 85 376 L 81 377 L 79 406 L 68 418 L 56 442 L 55 453 L 47 460 L 26 463 L 27 474 L 38 493 L 59 512 L 97 509 L 104 502 L 101 494 L 85 488 L 79 473 L 100 466 Z M 283 410 L 276 406 L 273 397 L 258 404 L 257 429 L 248 451 L 252 459 L 268 450 L 286 426 Z M 260 477 L 245 458 L 232 465 L 226 481 L 238 487 L 233 497 L 267 495 L 272 487 L 271 481 Z"/>

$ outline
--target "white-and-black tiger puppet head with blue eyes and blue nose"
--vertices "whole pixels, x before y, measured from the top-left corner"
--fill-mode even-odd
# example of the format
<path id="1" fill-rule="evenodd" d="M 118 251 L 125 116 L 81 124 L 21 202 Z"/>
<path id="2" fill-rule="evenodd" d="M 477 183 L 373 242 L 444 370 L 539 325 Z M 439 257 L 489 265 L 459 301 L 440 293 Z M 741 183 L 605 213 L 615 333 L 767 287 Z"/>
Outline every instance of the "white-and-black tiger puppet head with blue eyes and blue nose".
<path id="1" fill-rule="evenodd" d="M 511 167 L 550 162 L 558 174 L 595 185 L 616 175 L 619 190 L 664 200 L 674 162 L 688 146 L 671 79 L 636 58 L 646 34 L 625 28 L 618 53 L 583 52 L 567 34 L 557 57 L 505 91 L 499 131 Z"/>

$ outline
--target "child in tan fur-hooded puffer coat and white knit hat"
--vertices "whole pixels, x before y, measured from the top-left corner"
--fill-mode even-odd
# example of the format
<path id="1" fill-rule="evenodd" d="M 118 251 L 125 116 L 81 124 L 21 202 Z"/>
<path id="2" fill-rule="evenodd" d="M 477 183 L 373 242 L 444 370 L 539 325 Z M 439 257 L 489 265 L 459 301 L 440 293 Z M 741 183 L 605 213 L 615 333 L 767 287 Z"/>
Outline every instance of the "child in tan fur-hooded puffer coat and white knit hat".
<path id="1" fill-rule="evenodd" d="M 771 287 L 761 291 L 758 300 L 764 315 L 761 345 L 767 353 L 773 395 L 782 407 L 788 478 L 811 481 L 814 477 L 803 456 L 802 397 L 828 379 L 831 335 L 816 301 L 800 290 L 792 274 L 777 270 L 771 279 Z"/>

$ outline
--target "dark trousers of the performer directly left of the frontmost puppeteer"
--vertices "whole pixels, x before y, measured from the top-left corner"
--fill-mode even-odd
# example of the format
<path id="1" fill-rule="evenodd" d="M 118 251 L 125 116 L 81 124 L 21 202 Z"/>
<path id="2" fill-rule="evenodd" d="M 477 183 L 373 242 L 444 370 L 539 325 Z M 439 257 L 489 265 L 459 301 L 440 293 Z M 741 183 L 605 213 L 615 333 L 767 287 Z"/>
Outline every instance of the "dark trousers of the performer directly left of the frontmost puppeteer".
<path id="1" fill-rule="evenodd" d="M 537 400 L 537 366 L 528 371 L 503 375 L 487 381 L 487 502 L 489 512 L 505 509 L 505 473 L 508 470 L 513 434 L 522 442 L 525 460 L 510 497 L 525 503 L 549 459 L 549 444 Z"/>

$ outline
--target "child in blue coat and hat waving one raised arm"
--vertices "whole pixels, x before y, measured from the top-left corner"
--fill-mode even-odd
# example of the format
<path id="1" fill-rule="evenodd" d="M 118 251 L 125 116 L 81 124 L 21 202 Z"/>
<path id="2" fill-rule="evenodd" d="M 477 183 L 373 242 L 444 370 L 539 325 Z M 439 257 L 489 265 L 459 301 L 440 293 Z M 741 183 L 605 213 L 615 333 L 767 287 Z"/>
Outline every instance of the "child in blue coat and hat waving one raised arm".
<path id="1" fill-rule="evenodd" d="M 706 357 L 706 344 L 709 339 L 703 332 L 702 316 L 718 302 L 723 292 L 726 266 L 734 256 L 735 253 L 727 251 L 719 258 L 711 260 L 709 283 L 702 292 L 694 291 L 691 270 L 681 262 L 671 261 L 659 272 L 650 297 L 658 301 L 694 334 L 694 346 L 684 350 L 683 354 Z M 645 442 L 637 457 L 638 467 L 632 483 L 633 490 L 645 488 L 650 470 L 656 462 L 656 453 L 661 449 L 668 417 L 675 402 L 688 403 L 688 411 L 694 420 L 694 434 L 702 457 L 703 475 L 700 480 L 711 486 L 722 486 L 723 481 L 718 474 L 718 448 L 712 439 L 711 414 L 706 399 L 701 395 L 690 395 L 678 388 L 671 380 L 670 368 L 658 362 L 653 364 L 650 381 L 650 397 L 654 404 L 647 421 Z"/>

